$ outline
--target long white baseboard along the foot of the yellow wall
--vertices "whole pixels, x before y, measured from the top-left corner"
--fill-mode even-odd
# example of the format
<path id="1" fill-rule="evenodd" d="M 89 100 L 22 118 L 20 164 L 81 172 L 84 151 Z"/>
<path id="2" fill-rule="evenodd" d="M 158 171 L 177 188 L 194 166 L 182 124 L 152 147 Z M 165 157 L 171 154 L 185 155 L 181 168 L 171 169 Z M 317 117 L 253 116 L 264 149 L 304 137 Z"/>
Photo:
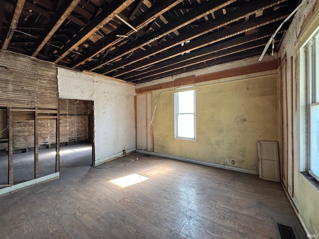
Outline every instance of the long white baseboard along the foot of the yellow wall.
<path id="1" fill-rule="evenodd" d="M 252 169 L 232 167 L 232 166 L 223 165 L 223 164 L 219 164 L 219 163 L 212 163 L 212 162 L 206 162 L 206 161 L 190 159 L 190 158 L 183 158 L 183 157 L 172 156 L 172 155 L 167 155 L 167 154 L 162 154 L 162 153 L 155 153 L 155 152 L 150 152 L 150 151 L 141 150 L 141 149 L 137 149 L 136 151 L 138 153 L 151 154 L 151 155 L 160 156 L 160 157 L 164 157 L 164 158 L 177 159 L 177 160 L 191 162 L 191 163 L 198 163 L 198 164 L 203 164 L 203 165 L 217 167 L 217 168 L 229 169 L 229 170 L 242 172 L 242 173 L 250 173 L 250 174 L 254 174 L 254 175 L 259 175 L 258 171 L 252 170 Z"/>

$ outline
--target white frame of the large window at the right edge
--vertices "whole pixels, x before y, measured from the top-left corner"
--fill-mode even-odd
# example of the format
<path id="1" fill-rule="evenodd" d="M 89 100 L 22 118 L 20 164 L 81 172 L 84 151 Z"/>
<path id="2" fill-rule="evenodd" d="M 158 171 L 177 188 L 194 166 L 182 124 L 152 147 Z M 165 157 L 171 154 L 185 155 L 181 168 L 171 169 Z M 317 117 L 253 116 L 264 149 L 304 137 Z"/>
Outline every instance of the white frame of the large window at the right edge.
<path id="1" fill-rule="evenodd" d="M 306 69 L 307 69 L 307 85 L 308 85 L 308 100 L 307 100 L 307 121 L 308 121 L 308 173 L 319 181 L 319 173 L 312 170 L 312 109 L 319 106 L 319 29 L 315 31 L 314 35 L 305 44 L 306 53 Z"/>

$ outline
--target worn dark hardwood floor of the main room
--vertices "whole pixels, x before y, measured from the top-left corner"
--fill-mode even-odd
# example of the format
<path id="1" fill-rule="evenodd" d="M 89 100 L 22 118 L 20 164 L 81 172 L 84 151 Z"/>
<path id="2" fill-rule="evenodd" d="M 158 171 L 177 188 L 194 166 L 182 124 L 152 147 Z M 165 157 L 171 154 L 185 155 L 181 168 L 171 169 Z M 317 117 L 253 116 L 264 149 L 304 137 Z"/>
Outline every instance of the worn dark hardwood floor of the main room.
<path id="1" fill-rule="evenodd" d="M 306 238 L 279 183 L 132 155 L 125 167 L 61 167 L 60 179 L 1 197 L 1 239 L 277 239 L 275 223 Z M 134 173 L 149 179 L 109 182 Z"/>

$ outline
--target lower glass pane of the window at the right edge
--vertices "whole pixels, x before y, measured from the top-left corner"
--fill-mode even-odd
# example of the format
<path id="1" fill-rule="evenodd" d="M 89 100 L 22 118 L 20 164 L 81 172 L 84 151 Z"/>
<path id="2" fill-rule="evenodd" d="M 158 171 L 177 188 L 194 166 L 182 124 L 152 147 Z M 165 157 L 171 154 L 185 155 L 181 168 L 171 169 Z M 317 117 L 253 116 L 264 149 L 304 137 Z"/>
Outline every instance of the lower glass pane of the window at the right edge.
<path id="1" fill-rule="evenodd" d="M 311 170 L 319 176 L 319 105 L 311 107 Z"/>

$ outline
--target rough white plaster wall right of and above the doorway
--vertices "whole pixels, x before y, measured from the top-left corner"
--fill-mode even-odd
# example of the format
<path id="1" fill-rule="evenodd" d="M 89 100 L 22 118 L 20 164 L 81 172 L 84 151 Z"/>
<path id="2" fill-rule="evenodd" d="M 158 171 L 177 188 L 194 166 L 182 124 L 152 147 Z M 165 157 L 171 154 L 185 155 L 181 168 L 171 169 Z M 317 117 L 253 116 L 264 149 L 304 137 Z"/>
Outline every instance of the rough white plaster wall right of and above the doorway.
<path id="1" fill-rule="evenodd" d="M 59 97 L 94 101 L 95 164 L 135 148 L 135 86 L 58 67 Z"/>

